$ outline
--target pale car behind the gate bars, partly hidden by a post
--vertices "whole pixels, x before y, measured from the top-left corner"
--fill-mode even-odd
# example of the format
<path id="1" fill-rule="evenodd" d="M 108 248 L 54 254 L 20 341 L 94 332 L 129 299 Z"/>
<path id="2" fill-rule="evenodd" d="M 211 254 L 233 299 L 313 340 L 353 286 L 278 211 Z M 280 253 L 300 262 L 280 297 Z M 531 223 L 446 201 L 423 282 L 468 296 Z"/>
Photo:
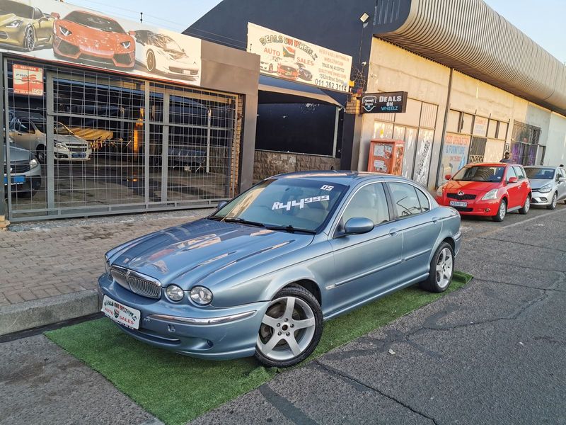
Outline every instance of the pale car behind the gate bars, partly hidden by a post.
<path id="1" fill-rule="evenodd" d="M 40 163 L 45 164 L 47 155 L 47 132 L 45 118 L 38 113 L 17 113 L 10 121 L 10 137 L 23 149 L 35 153 Z M 91 145 L 59 122 L 53 128 L 54 159 L 64 161 L 87 161 L 91 158 Z"/>

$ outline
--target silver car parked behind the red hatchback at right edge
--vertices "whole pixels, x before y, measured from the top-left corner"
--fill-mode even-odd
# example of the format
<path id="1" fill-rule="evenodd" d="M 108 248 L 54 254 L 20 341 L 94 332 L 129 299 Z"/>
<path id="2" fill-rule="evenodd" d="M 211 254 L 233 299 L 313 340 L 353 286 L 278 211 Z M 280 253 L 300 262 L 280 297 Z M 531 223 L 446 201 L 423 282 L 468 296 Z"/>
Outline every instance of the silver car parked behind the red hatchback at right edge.
<path id="1" fill-rule="evenodd" d="M 541 205 L 554 210 L 559 200 L 566 203 L 566 171 L 559 166 L 526 166 L 526 176 L 531 183 L 531 205 Z"/>

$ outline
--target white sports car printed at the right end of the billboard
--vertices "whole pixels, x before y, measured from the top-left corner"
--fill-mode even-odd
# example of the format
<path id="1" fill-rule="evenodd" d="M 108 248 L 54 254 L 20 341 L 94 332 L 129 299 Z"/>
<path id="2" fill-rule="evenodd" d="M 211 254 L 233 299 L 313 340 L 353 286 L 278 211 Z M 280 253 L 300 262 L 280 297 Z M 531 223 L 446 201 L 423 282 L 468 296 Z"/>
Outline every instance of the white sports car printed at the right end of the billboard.
<path id="1" fill-rule="evenodd" d="M 136 62 L 148 72 L 162 72 L 176 76 L 197 77 L 199 65 L 185 50 L 168 35 L 149 30 L 138 30 L 136 40 Z"/>

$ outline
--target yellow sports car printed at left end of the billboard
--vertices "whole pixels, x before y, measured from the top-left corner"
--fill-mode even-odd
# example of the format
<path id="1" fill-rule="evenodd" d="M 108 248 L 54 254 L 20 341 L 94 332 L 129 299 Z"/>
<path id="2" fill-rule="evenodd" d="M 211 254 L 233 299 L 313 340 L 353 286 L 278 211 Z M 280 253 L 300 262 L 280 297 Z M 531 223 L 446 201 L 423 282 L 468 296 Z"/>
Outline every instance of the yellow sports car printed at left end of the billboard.
<path id="1" fill-rule="evenodd" d="M 31 52 L 51 45 L 54 18 L 18 1 L 0 0 L 0 45 Z"/>

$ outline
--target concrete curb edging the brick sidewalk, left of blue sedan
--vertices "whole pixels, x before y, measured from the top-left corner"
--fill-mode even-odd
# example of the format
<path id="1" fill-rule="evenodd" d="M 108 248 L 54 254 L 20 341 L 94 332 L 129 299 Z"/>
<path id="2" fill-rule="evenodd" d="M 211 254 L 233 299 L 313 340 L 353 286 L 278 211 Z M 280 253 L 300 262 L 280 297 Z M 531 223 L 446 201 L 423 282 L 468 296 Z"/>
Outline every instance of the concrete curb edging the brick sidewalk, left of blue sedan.
<path id="1" fill-rule="evenodd" d="M 94 289 L 0 307 L 0 336 L 98 312 Z"/>

